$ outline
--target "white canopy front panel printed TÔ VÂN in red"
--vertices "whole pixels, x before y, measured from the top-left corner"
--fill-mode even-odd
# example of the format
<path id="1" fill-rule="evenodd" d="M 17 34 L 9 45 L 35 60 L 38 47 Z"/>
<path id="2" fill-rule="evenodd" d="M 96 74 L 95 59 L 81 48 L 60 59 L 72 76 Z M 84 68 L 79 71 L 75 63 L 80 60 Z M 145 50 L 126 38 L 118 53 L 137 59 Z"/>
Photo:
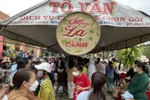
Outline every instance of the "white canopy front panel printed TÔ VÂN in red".
<path id="1" fill-rule="evenodd" d="M 10 25 L 58 25 L 66 14 L 76 11 L 91 14 L 99 25 L 150 27 L 150 17 L 112 0 L 50 0 Z"/>

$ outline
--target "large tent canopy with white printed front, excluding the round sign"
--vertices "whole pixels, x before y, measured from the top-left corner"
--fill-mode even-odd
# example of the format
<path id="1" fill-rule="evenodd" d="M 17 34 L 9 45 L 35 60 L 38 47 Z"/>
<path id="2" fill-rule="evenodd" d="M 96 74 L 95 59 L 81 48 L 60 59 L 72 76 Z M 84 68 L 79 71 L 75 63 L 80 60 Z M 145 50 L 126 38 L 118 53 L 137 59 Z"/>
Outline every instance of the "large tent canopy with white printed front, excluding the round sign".
<path id="1" fill-rule="evenodd" d="M 116 50 L 149 40 L 150 17 L 113 0 L 46 0 L 0 23 L 0 33 L 10 39 L 64 52 L 56 28 L 68 13 L 92 15 L 101 27 L 101 37 L 91 52 Z"/>

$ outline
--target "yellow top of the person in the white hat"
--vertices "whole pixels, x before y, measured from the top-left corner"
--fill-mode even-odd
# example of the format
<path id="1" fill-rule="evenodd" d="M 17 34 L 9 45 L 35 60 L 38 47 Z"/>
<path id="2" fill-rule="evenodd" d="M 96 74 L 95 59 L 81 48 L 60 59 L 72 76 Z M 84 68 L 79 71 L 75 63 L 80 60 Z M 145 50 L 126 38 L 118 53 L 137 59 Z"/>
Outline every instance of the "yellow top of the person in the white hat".
<path id="1" fill-rule="evenodd" d="M 49 78 L 47 78 L 41 85 L 38 100 L 56 100 L 54 88 Z"/>

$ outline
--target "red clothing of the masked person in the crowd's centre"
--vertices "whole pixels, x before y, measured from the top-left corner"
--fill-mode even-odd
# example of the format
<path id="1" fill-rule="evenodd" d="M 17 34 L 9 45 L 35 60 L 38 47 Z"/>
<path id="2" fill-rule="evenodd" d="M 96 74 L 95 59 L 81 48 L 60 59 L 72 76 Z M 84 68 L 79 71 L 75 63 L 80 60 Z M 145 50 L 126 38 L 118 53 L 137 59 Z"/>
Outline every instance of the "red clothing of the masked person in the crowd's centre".
<path id="1" fill-rule="evenodd" d="M 80 77 L 74 77 L 74 80 L 73 82 L 75 83 L 75 86 L 80 86 L 80 87 L 88 87 L 90 86 L 90 81 L 88 79 L 88 77 L 86 76 L 86 74 L 83 74 L 80 76 Z M 73 94 L 73 100 L 76 100 L 77 98 L 77 95 L 80 94 L 82 91 L 74 91 L 74 94 Z"/>

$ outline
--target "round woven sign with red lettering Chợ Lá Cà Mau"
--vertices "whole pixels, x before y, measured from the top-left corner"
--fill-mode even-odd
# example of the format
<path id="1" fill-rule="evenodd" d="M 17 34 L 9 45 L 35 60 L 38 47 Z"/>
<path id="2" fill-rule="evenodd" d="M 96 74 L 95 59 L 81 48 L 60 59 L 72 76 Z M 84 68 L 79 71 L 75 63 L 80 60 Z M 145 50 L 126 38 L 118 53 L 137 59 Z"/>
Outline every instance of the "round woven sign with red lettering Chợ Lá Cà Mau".
<path id="1" fill-rule="evenodd" d="M 74 12 L 67 15 L 57 27 L 60 47 L 71 55 L 90 52 L 100 39 L 100 26 L 89 14 Z"/>

